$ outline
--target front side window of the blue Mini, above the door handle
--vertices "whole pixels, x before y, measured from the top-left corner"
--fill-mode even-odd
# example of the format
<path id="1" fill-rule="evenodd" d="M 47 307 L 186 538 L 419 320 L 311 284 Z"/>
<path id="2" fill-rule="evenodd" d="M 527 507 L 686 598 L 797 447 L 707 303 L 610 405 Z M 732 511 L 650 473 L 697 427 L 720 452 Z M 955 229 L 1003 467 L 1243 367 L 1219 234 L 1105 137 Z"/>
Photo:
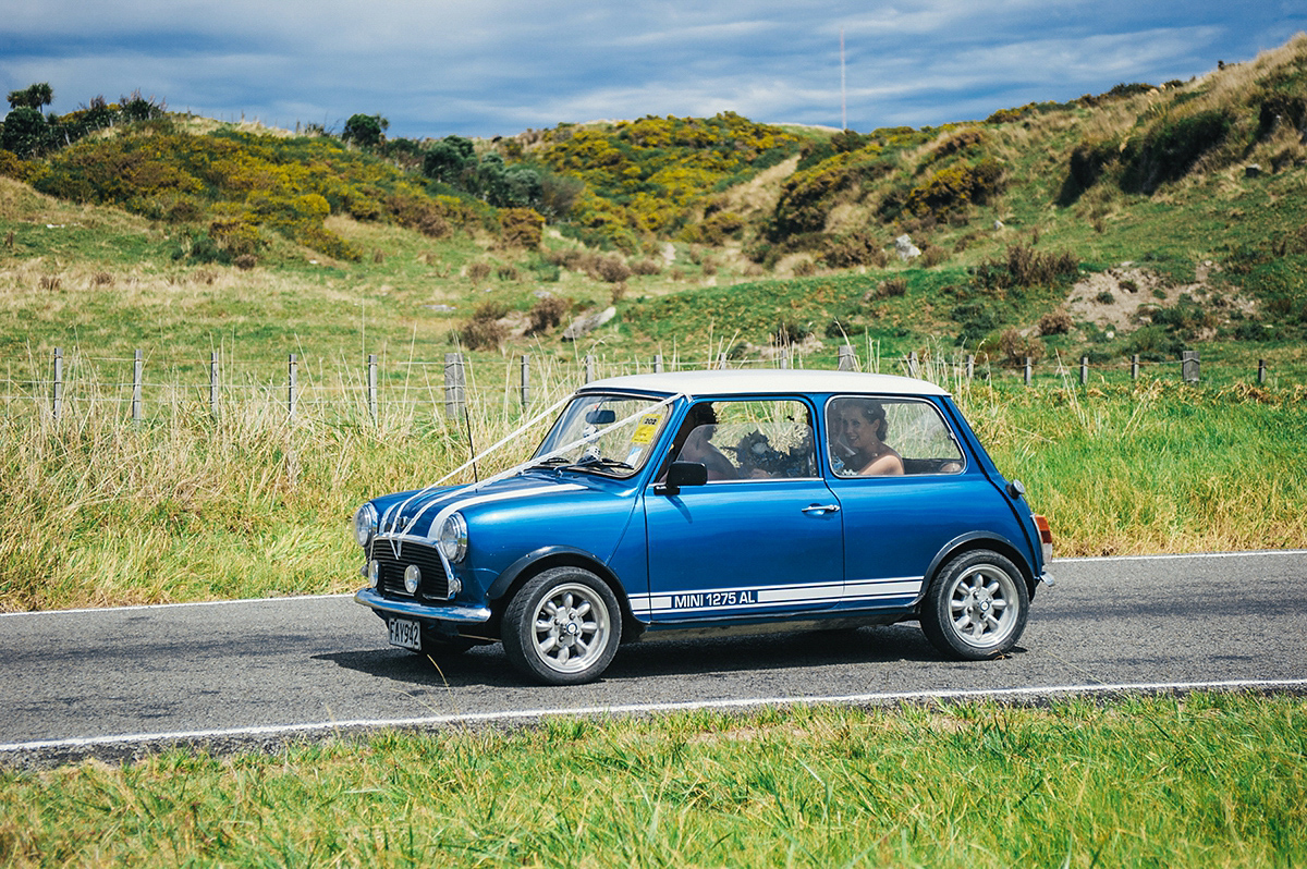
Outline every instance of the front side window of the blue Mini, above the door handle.
<path id="1" fill-rule="evenodd" d="M 704 464 L 710 482 L 817 476 L 808 405 L 793 400 L 699 401 L 676 434 L 672 457 Z"/>

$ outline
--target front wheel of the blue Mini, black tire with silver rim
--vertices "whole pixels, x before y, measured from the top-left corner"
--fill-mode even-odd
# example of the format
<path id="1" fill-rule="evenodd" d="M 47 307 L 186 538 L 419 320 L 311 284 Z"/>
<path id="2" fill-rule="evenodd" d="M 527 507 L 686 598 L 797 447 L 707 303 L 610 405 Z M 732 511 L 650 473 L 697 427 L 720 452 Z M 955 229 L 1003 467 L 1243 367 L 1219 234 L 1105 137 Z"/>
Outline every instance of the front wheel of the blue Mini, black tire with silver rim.
<path id="1" fill-rule="evenodd" d="M 503 614 L 503 651 L 521 673 L 548 685 L 582 685 L 603 674 L 622 639 L 613 589 L 580 567 L 554 567 L 518 589 Z"/>

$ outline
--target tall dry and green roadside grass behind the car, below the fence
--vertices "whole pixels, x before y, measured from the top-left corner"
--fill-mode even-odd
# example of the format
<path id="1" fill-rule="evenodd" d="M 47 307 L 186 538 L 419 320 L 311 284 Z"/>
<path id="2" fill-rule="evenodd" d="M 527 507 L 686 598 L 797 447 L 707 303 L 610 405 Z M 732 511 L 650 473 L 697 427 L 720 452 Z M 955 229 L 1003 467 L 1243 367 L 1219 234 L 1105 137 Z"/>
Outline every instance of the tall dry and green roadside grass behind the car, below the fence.
<path id="1" fill-rule="evenodd" d="M 874 348 L 868 359 L 881 367 Z M 225 380 L 217 417 L 207 393 L 178 388 L 133 423 L 119 384 L 72 365 L 60 419 L 44 399 L 0 416 L 0 609 L 350 591 L 358 503 L 460 468 L 580 370 L 540 359 L 525 416 L 514 358 L 469 365 L 467 417 L 446 417 L 443 370 L 414 365 L 384 385 L 375 419 L 356 370 L 306 371 L 294 418 L 284 384 Z M 1307 480 L 1287 472 L 1307 463 L 1307 389 L 996 387 L 942 352 L 918 374 L 955 395 L 1000 470 L 1027 485 L 1060 555 L 1307 546 Z M 452 482 L 525 459 L 550 422 Z"/>

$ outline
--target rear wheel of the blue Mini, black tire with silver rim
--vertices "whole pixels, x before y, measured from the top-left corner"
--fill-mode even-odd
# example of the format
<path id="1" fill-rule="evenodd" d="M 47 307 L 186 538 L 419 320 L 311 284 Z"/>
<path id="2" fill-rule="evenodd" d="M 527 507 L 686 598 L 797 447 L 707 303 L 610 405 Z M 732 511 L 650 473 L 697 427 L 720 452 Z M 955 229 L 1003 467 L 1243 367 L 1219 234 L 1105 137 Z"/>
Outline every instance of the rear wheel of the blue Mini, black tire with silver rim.
<path id="1" fill-rule="evenodd" d="M 921 601 L 921 630 L 949 657 L 985 661 L 1012 651 L 1029 612 L 1030 589 L 1017 566 L 976 549 L 936 574 Z"/>

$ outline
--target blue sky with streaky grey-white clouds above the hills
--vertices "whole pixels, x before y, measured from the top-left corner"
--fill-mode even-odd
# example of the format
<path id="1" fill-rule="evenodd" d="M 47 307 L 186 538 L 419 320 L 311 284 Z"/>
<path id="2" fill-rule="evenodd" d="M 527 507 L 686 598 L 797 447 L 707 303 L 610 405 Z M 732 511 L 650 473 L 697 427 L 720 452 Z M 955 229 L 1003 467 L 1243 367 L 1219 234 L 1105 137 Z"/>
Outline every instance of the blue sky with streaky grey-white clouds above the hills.
<path id="1" fill-rule="evenodd" d="M 712 115 L 853 129 L 1187 80 L 1307 30 L 1307 3 L 0 0 L 0 88 L 391 136 Z"/>

